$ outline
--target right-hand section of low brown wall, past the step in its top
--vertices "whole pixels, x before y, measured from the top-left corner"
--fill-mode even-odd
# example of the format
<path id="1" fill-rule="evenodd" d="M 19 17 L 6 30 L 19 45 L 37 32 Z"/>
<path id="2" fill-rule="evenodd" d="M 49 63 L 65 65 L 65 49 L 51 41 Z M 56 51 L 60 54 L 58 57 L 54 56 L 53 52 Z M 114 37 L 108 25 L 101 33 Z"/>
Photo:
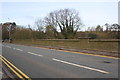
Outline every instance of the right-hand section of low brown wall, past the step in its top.
<path id="1" fill-rule="evenodd" d="M 89 48 L 94 50 L 109 51 L 109 52 L 119 52 L 118 39 L 90 39 Z"/>

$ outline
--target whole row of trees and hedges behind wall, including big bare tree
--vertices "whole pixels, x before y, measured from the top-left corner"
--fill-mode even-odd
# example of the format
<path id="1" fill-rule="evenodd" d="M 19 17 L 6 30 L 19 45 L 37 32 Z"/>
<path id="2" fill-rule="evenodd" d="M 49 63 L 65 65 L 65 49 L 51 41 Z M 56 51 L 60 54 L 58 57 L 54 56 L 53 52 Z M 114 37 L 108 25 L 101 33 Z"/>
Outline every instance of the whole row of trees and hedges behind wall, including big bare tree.
<path id="1" fill-rule="evenodd" d="M 76 39 L 90 37 L 100 39 L 120 39 L 120 25 L 105 24 L 103 26 L 88 27 L 80 31 L 83 24 L 78 11 L 74 9 L 60 9 L 50 12 L 44 18 L 35 21 L 36 29 L 17 25 L 15 22 L 6 22 L 2 25 L 2 39 Z"/>

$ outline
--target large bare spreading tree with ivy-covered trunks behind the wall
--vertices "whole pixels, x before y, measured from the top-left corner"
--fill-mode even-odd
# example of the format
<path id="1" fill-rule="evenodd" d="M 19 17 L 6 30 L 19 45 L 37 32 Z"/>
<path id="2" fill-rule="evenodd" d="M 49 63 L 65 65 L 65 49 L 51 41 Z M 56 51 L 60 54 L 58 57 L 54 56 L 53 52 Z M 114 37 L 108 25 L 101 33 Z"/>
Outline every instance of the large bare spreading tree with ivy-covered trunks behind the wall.
<path id="1" fill-rule="evenodd" d="M 79 13 L 74 9 L 60 9 L 49 13 L 45 18 L 48 25 L 54 26 L 61 31 L 65 39 L 74 38 L 82 25 Z"/>

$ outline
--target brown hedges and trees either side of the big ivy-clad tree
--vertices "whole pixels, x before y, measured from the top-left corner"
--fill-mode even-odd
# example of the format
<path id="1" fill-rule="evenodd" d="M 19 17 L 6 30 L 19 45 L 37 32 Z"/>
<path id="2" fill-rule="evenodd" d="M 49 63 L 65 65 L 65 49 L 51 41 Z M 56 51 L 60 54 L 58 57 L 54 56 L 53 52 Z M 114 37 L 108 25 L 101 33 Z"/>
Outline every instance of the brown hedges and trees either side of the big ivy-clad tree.
<path id="1" fill-rule="evenodd" d="M 8 25 L 12 24 L 13 29 L 10 30 Z M 115 25 L 115 24 L 114 24 Z M 118 26 L 117 24 L 115 27 Z M 113 27 L 113 26 L 112 26 Z M 45 31 L 34 30 L 32 28 L 25 28 L 18 26 L 15 23 L 4 23 L 2 24 L 2 39 L 65 39 L 61 32 L 54 33 L 51 27 L 47 26 Z M 106 28 L 103 30 L 100 25 L 97 27 L 88 28 L 86 31 L 77 31 L 75 37 L 69 37 L 68 39 L 78 39 L 90 37 L 93 39 L 120 39 L 118 29 Z"/>

